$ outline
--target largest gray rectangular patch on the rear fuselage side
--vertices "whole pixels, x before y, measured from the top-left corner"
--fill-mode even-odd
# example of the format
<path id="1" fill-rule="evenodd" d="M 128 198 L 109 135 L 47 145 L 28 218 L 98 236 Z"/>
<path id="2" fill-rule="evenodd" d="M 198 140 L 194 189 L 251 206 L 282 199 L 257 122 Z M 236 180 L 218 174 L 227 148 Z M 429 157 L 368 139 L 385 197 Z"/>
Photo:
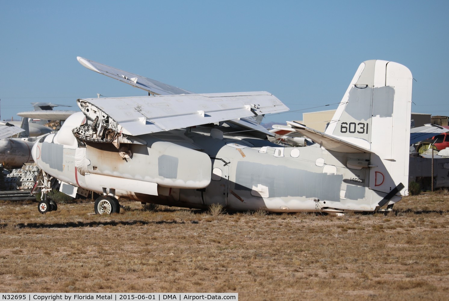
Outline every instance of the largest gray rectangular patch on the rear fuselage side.
<path id="1" fill-rule="evenodd" d="M 251 191 L 261 184 L 268 187 L 270 198 L 301 196 L 339 202 L 342 181 L 343 175 L 242 161 L 237 164 L 235 189 Z"/>

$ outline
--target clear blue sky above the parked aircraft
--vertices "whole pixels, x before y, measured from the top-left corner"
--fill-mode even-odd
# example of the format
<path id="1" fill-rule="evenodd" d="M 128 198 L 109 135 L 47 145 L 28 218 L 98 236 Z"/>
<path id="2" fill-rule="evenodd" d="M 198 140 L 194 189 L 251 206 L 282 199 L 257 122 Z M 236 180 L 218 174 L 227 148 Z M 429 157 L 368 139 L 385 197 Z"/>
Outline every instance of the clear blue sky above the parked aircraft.
<path id="1" fill-rule="evenodd" d="M 269 91 L 303 110 L 267 120 L 279 123 L 335 109 L 324 105 L 358 65 L 383 59 L 412 71 L 412 111 L 449 115 L 448 30 L 449 1 L 0 0 L 0 118 L 30 102 L 145 95 L 77 56 L 198 93 Z"/>

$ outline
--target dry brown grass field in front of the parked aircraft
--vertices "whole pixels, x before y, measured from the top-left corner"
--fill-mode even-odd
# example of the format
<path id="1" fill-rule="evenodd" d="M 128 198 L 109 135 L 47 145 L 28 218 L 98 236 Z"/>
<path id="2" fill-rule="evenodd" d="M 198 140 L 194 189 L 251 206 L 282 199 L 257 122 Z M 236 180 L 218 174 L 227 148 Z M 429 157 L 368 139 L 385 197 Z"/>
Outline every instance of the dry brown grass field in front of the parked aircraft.
<path id="1" fill-rule="evenodd" d="M 446 300 L 449 195 L 343 217 L 0 203 L 0 292 L 238 292 L 240 300 Z"/>

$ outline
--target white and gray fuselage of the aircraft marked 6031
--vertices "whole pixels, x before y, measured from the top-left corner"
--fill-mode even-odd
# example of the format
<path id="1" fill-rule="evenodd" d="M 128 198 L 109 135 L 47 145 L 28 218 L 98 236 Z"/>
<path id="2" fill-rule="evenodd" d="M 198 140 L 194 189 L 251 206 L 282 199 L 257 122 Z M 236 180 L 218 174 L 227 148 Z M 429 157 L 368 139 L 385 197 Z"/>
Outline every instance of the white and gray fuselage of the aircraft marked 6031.
<path id="1" fill-rule="evenodd" d="M 111 143 L 88 143 L 79 155 L 81 148 L 55 143 L 52 135 L 33 152 L 38 165 L 59 180 L 98 193 L 114 189 L 116 196 L 144 203 L 221 204 L 236 211 L 373 211 L 386 195 L 369 189 L 369 168 L 347 167 L 348 160 L 366 161 L 369 154 L 330 152 L 318 145 L 281 147 L 226 133 L 232 132 L 229 127 L 215 126 L 224 135 L 213 138 L 211 130 L 142 135 L 138 138 L 146 145 L 127 144 L 128 156 Z"/>

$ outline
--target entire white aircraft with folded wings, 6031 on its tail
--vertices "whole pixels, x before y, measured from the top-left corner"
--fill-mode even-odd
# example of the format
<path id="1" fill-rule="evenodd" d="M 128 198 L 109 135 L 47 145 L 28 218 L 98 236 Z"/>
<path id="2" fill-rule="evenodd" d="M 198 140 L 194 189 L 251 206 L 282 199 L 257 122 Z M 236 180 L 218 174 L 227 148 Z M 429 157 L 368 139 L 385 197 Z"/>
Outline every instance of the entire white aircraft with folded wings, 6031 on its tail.
<path id="1" fill-rule="evenodd" d="M 117 197 L 187 208 L 373 212 L 408 194 L 412 75 L 395 62 L 361 63 L 320 133 L 289 122 L 316 144 L 280 147 L 256 122 L 288 108 L 267 92 L 194 94 L 84 58 L 92 71 L 151 96 L 78 99 L 82 112 L 33 146 L 67 194 L 103 195 L 96 213 L 119 212 Z M 250 119 L 248 119 L 248 117 Z M 248 129 L 252 129 L 249 131 Z"/>

